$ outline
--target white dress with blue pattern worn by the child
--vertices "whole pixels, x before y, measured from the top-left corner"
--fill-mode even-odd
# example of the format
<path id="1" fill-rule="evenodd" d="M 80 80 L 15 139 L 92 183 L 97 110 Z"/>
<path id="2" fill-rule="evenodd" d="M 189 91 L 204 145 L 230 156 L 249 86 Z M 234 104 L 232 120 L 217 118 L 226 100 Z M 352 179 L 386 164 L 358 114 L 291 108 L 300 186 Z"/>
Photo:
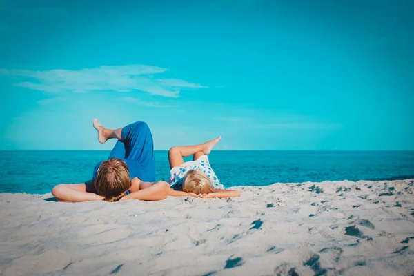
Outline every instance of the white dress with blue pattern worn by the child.
<path id="1" fill-rule="evenodd" d="M 214 188 L 224 190 L 223 184 L 220 183 L 219 178 L 215 175 L 213 169 L 210 166 L 210 161 L 208 161 L 207 155 L 202 155 L 195 161 L 188 161 L 180 166 L 175 166 L 171 169 L 171 177 L 168 180 L 171 188 L 181 189 L 183 186 L 184 177 L 189 170 L 201 170 L 204 172 L 208 178 L 210 178 L 211 184 Z"/>

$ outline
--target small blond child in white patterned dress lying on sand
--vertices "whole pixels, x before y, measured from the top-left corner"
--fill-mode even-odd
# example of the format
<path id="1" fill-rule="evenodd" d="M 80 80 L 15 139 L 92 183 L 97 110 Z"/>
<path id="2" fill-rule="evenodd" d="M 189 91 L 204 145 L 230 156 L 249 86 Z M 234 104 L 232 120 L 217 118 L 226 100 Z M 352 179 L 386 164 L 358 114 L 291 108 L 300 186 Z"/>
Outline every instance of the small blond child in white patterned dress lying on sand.
<path id="1" fill-rule="evenodd" d="M 171 177 L 171 196 L 192 197 L 239 197 L 237 190 L 224 190 L 210 166 L 207 155 L 221 137 L 196 146 L 175 146 L 168 152 Z M 183 157 L 193 155 L 193 161 L 184 162 Z"/>

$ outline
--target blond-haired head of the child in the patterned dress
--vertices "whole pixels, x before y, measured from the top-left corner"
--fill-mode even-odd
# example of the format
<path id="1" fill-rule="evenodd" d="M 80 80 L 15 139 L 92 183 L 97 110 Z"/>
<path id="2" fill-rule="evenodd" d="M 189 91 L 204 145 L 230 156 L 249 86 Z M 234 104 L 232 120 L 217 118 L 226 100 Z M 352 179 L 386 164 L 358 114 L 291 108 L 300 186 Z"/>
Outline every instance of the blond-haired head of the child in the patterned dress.
<path id="1" fill-rule="evenodd" d="M 201 170 L 189 170 L 183 180 L 183 191 L 195 194 L 214 193 L 210 178 Z"/>

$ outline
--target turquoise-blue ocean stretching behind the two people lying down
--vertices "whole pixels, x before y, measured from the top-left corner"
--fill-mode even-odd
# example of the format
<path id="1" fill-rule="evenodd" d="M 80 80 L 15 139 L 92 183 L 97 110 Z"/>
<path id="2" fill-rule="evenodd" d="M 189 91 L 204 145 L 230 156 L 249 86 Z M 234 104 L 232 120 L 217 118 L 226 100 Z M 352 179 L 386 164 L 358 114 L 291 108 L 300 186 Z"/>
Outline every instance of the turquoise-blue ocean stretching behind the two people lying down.
<path id="1" fill-rule="evenodd" d="M 92 177 L 104 150 L 1 151 L 0 193 L 50 193 L 61 183 Z M 166 150 L 156 150 L 156 177 L 168 181 Z M 414 151 L 224 151 L 211 152 L 210 164 L 224 186 L 265 186 L 324 180 L 414 178 Z M 186 161 L 190 158 L 186 158 Z"/>

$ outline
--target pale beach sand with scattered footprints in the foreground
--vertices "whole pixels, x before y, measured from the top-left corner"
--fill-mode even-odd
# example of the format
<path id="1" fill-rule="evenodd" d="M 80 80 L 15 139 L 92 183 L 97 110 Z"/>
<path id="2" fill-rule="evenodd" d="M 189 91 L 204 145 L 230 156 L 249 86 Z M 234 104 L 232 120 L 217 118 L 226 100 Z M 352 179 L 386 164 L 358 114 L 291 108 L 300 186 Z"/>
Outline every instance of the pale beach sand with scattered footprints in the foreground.
<path id="1" fill-rule="evenodd" d="M 241 198 L 80 204 L 3 193 L 0 273 L 414 273 L 414 179 L 237 190 Z"/>

